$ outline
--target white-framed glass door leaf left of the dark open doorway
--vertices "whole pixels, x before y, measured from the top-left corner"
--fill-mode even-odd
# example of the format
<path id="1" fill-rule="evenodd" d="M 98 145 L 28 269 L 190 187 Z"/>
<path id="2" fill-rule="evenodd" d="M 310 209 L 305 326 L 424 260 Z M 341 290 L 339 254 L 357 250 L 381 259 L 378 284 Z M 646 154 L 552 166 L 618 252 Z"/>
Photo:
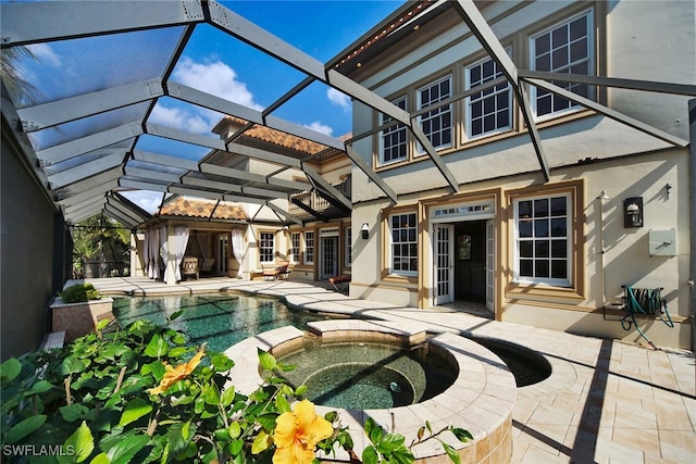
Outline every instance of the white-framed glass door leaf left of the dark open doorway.
<path id="1" fill-rule="evenodd" d="M 449 224 L 434 224 L 433 242 L 434 256 L 434 304 L 451 303 L 455 301 L 455 226 Z"/>

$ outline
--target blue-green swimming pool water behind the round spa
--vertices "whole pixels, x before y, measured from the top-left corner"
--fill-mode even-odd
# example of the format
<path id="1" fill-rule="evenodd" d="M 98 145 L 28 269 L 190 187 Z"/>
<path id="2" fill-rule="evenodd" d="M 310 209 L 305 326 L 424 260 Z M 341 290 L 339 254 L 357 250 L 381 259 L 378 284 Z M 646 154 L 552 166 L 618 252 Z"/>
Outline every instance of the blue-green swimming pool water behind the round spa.
<path id="1" fill-rule="evenodd" d="M 177 311 L 182 315 L 170 322 Z M 306 330 L 307 323 L 328 318 L 290 310 L 275 298 L 236 293 L 115 297 L 113 314 L 122 326 L 145 318 L 183 331 L 190 344 L 208 342 L 209 350 L 221 352 L 266 330 L 287 325 Z"/>

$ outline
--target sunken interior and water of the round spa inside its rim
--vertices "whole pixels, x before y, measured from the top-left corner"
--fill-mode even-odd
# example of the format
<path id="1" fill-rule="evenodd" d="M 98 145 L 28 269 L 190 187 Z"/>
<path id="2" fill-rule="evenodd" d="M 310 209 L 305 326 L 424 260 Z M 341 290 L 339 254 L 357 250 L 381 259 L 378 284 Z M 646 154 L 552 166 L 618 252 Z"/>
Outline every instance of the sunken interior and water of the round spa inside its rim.
<path id="1" fill-rule="evenodd" d="M 278 361 L 295 366 L 276 375 L 293 388 L 306 385 L 314 404 L 358 410 L 415 404 L 457 379 L 455 356 L 427 341 L 409 344 L 396 337 L 376 341 L 353 335 L 353 340 L 327 341 L 310 334 L 299 349 L 295 343 L 274 347 L 271 353 Z"/>

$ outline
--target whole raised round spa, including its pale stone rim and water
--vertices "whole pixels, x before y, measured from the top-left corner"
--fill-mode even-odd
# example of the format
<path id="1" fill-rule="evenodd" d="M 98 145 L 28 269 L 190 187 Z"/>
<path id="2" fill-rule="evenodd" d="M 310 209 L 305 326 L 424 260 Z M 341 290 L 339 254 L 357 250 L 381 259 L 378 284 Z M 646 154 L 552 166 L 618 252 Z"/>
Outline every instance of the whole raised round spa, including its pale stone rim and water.
<path id="1" fill-rule="evenodd" d="M 318 413 L 336 411 L 348 427 L 355 451 L 370 443 L 363 424 L 374 419 L 410 443 L 428 422 L 433 430 L 447 426 L 469 430 L 474 439 L 461 443 L 443 434 L 462 462 L 508 463 L 512 456 L 513 375 L 493 351 L 453 334 L 430 336 L 415 322 L 330 319 L 309 323 L 309 331 L 282 327 L 248 338 L 228 350 L 235 366 L 229 384 L 251 393 L 262 384 L 258 350 L 294 364 L 283 373 L 290 385 L 307 385 Z M 277 375 L 279 373 L 274 373 Z M 415 446 L 417 462 L 444 459 L 442 443 Z M 320 456 L 322 462 L 348 462 Z"/>

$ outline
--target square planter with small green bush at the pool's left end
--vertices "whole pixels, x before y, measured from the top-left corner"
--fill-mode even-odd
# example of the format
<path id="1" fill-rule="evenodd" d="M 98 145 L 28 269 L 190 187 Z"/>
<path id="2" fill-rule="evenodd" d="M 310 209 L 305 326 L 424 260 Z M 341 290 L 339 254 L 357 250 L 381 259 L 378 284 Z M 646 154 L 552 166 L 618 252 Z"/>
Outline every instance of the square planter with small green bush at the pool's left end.
<path id="1" fill-rule="evenodd" d="M 65 341 L 97 329 L 103 319 L 113 319 L 113 300 L 102 297 L 91 284 L 80 283 L 65 288 L 50 305 L 52 331 L 65 331 Z"/>

